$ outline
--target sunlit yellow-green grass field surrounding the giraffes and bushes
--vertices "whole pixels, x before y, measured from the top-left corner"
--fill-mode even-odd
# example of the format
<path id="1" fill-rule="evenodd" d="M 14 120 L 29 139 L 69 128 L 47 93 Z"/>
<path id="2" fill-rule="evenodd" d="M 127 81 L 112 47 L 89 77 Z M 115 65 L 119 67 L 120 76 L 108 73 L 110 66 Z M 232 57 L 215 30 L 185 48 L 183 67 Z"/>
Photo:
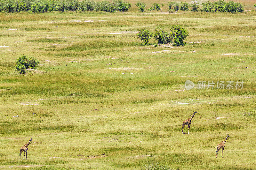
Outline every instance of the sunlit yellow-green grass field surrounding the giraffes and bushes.
<path id="1" fill-rule="evenodd" d="M 166 11 L 1 13 L 0 168 L 255 169 L 256 12 Z M 172 25 L 188 45 L 136 37 Z M 37 71 L 15 71 L 20 55 Z M 244 84 L 186 90 L 186 80 Z"/>

